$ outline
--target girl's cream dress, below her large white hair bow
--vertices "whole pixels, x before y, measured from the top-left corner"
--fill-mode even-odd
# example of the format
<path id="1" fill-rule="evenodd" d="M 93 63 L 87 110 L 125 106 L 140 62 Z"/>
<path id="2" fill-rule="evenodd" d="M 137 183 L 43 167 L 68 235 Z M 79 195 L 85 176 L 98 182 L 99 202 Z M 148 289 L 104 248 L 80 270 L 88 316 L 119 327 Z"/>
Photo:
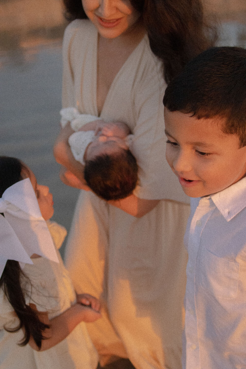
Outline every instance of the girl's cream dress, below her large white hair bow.
<path id="1" fill-rule="evenodd" d="M 55 222 L 47 222 L 47 225 L 55 245 L 60 247 L 66 236 L 65 228 Z M 76 301 L 69 274 L 63 266 L 59 252 L 57 255 L 59 263 L 46 258 L 37 258 L 32 259 L 33 265 L 25 264 L 23 269 L 32 284 L 30 286 L 26 280 L 22 282 L 26 303 L 34 303 L 38 311 L 49 311 L 49 319 L 60 315 Z M 0 328 L 3 327 L 3 323 L 10 321 L 11 317 L 15 319 L 13 322 L 15 324 L 12 323 L 12 326 L 16 327 L 18 318 L 2 289 L 0 289 L 0 298 Z M 3 321 L 4 317 L 5 321 Z M 1 339 L 1 335 L 6 337 L 5 340 Z M 21 330 L 17 333 L 0 330 L 1 369 L 96 369 L 97 367 L 98 354 L 84 322 L 78 324 L 62 342 L 46 351 L 34 351 L 29 345 L 17 346 L 16 343 L 22 338 Z"/>

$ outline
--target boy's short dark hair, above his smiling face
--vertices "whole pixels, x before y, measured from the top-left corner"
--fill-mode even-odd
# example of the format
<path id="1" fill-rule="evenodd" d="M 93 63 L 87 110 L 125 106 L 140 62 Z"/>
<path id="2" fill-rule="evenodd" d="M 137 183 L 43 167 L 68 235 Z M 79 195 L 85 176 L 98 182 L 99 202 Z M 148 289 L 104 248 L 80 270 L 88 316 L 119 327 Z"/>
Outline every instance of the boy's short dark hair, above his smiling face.
<path id="1" fill-rule="evenodd" d="M 163 104 L 196 118 L 225 120 L 222 131 L 246 146 L 246 50 L 210 48 L 187 63 L 167 86 Z"/>

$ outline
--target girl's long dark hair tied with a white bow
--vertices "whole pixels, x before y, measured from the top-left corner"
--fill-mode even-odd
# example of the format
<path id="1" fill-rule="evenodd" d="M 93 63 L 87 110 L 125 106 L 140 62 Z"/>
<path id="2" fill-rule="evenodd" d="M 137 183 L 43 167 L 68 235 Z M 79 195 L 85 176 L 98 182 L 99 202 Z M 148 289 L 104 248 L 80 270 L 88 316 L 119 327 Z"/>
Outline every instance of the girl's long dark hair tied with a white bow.
<path id="1" fill-rule="evenodd" d="M 19 159 L 0 156 L 0 197 L 8 187 L 22 180 L 22 168 L 25 167 Z M 20 319 L 20 324 L 11 329 L 5 327 L 5 330 L 17 332 L 24 327 L 24 338 L 19 345 L 25 346 L 32 336 L 38 348 L 41 348 L 42 339 L 45 338 L 42 332 L 45 328 L 49 328 L 49 325 L 42 323 L 37 313 L 25 303 L 20 282 L 20 279 L 25 278 L 27 279 L 18 261 L 8 260 L 0 278 L 0 288 L 3 289 L 17 317 Z"/>

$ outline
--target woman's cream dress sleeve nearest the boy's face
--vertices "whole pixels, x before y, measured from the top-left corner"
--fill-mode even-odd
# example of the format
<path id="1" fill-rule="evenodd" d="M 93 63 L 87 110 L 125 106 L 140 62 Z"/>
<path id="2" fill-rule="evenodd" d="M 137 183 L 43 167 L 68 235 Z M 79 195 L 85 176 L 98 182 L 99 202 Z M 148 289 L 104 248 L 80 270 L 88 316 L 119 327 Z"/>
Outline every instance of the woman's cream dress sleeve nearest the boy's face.
<path id="1" fill-rule="evenodd" d="M 142 72 L 134 88 L 136 125 L 131 144 L 139 166 L 139 183 L 134 190 L 141 199 L 171 199 L 189 203 L 179 181 L 166 161 L 163 96 L 166 84 L 161 63 L 156 60 Z"/>

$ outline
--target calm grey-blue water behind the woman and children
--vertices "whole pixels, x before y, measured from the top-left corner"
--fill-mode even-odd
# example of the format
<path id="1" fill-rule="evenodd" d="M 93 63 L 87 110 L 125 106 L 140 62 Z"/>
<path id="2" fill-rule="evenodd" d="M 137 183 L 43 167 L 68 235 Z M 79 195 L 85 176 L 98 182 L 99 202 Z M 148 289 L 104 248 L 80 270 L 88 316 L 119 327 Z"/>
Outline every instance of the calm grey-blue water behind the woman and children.
<path id="1" fill-rule="evenodd" d="M 53 219 L 69 229 L 78 191 L 59 180 L 52 154 L 59 131 L 62 41 L 40 36 L 9 40 L 0 49 L 0 154 L 20 158 L 50 187 Z M 246 47 L 246 25 L 222 24 L 218 45 Z"/>

